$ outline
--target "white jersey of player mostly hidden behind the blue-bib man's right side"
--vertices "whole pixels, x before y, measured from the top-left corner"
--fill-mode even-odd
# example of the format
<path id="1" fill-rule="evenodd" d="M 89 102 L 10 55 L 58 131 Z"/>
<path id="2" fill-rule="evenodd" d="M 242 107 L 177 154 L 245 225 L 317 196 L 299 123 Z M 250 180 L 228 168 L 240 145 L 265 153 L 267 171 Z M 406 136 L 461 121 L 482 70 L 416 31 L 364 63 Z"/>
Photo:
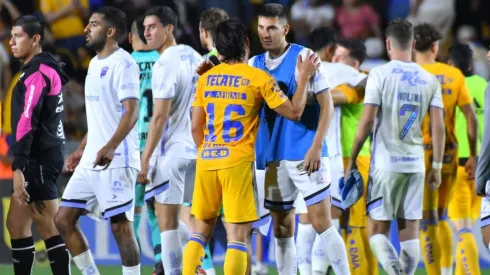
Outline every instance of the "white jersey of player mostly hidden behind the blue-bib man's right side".
<path id="1" fill-rule="evenodd" d="M 332 88 L 335 88 L 342 84 L 356 86 L 366 78 L 364 74 L 361 74 L 353 67 L 342 63 L 322 62 L 322 68 L 325 72 L 325 77 L 327 78 Z M 329 157 L 342 156 L 342 144 L 340 140 L 340 118 L 341 109 L 340 107 L 335 107 L 334 115 L 332 121 L 330 122 L 330 128 L 328 129 L 326 137 Z"/>

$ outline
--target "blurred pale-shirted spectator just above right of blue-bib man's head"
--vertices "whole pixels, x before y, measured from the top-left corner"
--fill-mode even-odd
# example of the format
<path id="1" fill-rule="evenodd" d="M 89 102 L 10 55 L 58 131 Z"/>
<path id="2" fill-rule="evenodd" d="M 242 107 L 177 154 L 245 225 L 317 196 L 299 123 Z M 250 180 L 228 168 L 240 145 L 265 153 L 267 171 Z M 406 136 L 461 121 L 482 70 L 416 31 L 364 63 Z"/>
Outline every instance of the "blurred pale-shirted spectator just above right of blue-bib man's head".
<path id="1" fill-rule="evenodd" d="M 296 42 L 305 44 L 311 31 L 318 27 L 332 26 L 335 9 L 326 0 L 298 0 L 291 7 L 290 24 Z"/>

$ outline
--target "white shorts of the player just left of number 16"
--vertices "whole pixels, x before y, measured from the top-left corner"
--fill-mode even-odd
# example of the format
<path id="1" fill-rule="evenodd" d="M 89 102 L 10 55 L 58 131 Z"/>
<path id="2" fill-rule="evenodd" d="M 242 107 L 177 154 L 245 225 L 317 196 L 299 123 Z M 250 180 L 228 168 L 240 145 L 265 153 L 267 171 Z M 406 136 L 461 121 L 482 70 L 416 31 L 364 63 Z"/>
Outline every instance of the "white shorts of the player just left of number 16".
<path id="1" fill-rule="evenodd" d="M 192 203 L 196 160 L 159 156 L 154 175 L 146 186 L 145 201 L 152 198 L 161 204 Z"/>

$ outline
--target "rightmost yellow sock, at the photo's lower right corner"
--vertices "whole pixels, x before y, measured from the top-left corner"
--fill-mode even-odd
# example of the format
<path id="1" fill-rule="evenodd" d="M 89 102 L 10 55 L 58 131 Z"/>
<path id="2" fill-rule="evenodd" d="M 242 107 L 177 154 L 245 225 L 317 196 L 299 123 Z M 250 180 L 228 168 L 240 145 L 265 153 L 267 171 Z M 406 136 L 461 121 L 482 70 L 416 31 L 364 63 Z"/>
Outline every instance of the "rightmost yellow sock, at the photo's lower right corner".
<path id="1" fill-rule="evenodd" d="M 478 247 L 470 229 L 458 232 L 456 247 L 456 275 L 480 274 L 478 263 Z"/>

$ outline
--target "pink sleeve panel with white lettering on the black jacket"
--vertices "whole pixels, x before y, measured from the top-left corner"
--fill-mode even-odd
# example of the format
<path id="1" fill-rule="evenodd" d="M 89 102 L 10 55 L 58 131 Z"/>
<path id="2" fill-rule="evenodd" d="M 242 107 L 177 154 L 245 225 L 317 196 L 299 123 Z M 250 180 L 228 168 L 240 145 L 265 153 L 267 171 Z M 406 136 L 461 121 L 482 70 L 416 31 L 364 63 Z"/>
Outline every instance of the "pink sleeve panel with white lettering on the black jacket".
<path id="1" fill-rule="evenodd" d="M 26 86 L 24 111 L 20 115 L 19 123 L 17 124 L 16 141 L 21 140 L 32 130 L 32 113 L 39 103 L 43 89 L 46 87 L 46 81 L 43 74 L 37 71 L 24 81 L 24 85 Z"/>

